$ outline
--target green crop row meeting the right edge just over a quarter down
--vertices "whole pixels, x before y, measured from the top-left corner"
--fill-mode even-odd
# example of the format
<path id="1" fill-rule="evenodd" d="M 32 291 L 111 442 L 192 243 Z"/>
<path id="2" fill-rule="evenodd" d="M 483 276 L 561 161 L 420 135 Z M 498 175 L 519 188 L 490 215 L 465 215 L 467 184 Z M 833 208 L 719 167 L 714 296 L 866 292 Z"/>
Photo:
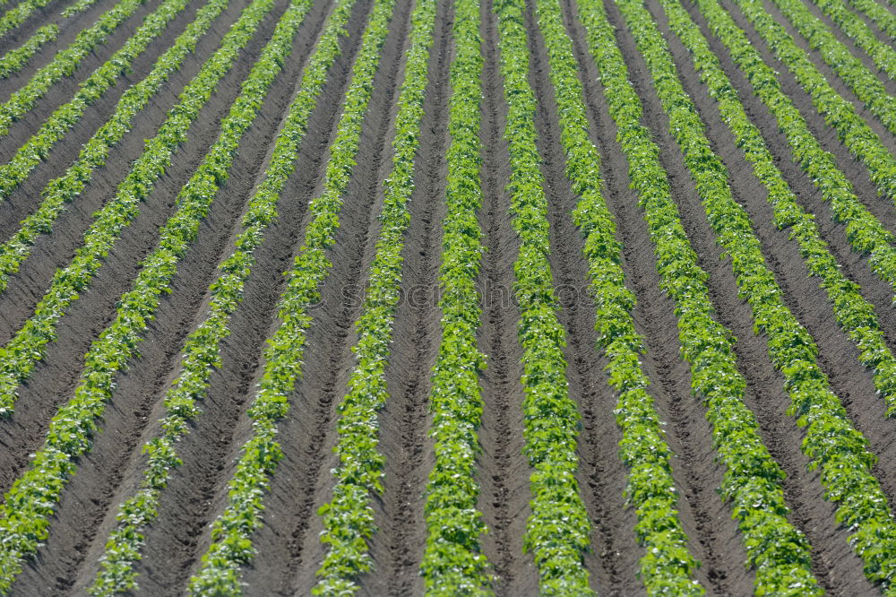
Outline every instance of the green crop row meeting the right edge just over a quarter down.
<path id="1" fill-rule="evenodd" d="M 696 4 L 701 6 L 705 2 L 706 0 L 696 0 Z M 815 109 L 824 117 L 824 121 L 837 131 L 840 141 L 866 165 L 878 192 L 896 202 L 896 159 L 883 145 L 880 137 L 874 134 L 862 117 L 857 115 L 856 108 L 834 91 L 823 74 L 819 73 L 809 60 L 806 51 L 797 46 L 787 30 L 771 18 L 762 2 L 758 0 L 735 0 L 735 2 L 746 18 L 753 23 L 774 55 L 794 74 L 797 82 L 812 98 Z M 853 91 L 856 91 L 859 99 L 865 101 L 878 117 L 882 114 L 886 116 L 888 113 L 896 115 L 896 103 L 886 94 L 876 93 L 876 89 L 878 88 L 872 84 L 864 90 Z M 869 94 L 873 94 L 874 97 Z M 873 103 L 869 104 L 868 100 Z M 874 108 L 875 106 L 877 108 Z M 892 133 L 896 133 L 896 117 L 887 117 L 883 122 Z"/>

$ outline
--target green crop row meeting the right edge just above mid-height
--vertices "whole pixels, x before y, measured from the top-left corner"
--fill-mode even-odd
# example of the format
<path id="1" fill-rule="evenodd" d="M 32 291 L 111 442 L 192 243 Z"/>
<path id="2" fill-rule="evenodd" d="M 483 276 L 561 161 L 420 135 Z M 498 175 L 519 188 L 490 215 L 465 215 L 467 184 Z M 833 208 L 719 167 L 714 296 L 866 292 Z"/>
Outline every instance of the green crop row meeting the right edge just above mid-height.
<path id="1" fill-rule="evenodd" d="M 771 66 L 762 62 L 762 56 L 744 31 L 737 27 L 717 0 L 696 0 L 696 3 L 713 33 L 728 48 L 735 64 L 753 86 L 754 93 L 778 121 L 778 127 L 787 137 L 794 160 L 821 191 L 822 198 L 831 204 L 837 221 L 846 226 L 849 245 L 858 253 L 868 255 L 868 262 L 874 273 L 890 284 L 896 294 L 896 249 L 892 246 L 896 238 L 859 201 L 849 180 L 837 168 L 831 153 L 823 150 L 793 100 L 781 90 L 778 74 Z M 664 5 L 669 7 L 676 4 Z M 695 42 L 692 39 L 692 36 L 682 37 L 685 46 L 692 53 L 699 52 L 693 46 Z M 709 66 L 710 63 L 703 60 L 702 65 Z"/>

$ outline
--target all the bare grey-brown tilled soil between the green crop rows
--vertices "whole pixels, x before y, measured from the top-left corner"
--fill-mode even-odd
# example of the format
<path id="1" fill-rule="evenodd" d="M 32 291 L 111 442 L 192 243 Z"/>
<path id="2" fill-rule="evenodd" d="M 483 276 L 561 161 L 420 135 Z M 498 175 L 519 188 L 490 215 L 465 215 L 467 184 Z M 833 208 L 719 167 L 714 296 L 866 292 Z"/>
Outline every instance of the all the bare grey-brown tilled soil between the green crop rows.
<path id="1" fill-rule="evenodd" d="M 65 19 L 59 14 L 65 3 L 51 3 L 22 26 L 0 38 L 0 52 L 16 48 L 39 26 L 57 22 L 61 32 L 47 44 L 20 74 L 0 82 L 0 101 L 30 80 L 41 65 L 65 48 L 78 31 L 90 26 L 114 5 L 99 0 L 85 13 Z M 56 107 L 71 99 L 78 85 L 120 48 L 125 39 L 150 13 L 158 0 L 147 0 L 130 19 L 117 28 L 107 43 L 97 48 L 71 75 L 57 83 L 36 107 L 16 122 L 9 135 L 0 138 L 0 160 L 9 160 Z M 201 0 L 194 0 L 170 22 L 168 28 L 140 56 L 132 70 L 95 104 L 90 106 L 65 139 L 57 143 L 47 159 L 9 200 L 0 202 L 0 241 L 13 235 L 18 222 L 39 204 L 41 190 L 71 164 L 85 143 L 111 115 L 128 86 L 150 72 L 155 59 L 170 47 L 192 22 Z M 50 234 L 39 237 L 21 271 L 11 276 L 0 294 L 0 342 L 4 345 L 33 313 L 35 306 L 59 267 L 65 267 L 82 245 L 83 233 L 97 212 L 116 193 L 131 163 L 143 151 L 143 140 L 155 134 L 168 109 L 202 63 L 215 51 L 247 0 L 232 0 L 228 9 L 202 36 L 195 52 L 170 75 L 164 89 L 151 99 L 134 119 L 132 130 L 112 150 L 107 164 L 54 224 Z M 246 203 L 263 179 L 271 158 L 275 135 L 301 83 L 303 68 L 330 14 L 332 0 L 317 0 L 306 16 L 293 44 L 289 60 L 271 85 L 268 99 L 254 124 L 246 132 L 239 153 L 198 238 L 181 264 L 155 321 L 143 334 L 141 356 L 116 378 L 115 395 L 109 402 L 99 433 L 92 446 L 76 463 L 77 474 L 67 483 L 56 506 L 49 536 L 36 556 L 28 559 L 13 585 L 13 595 L 84 594 L 99 570 L 99 557 L 116 524 L 117 506 L 133 494 L 142 479 L 146 458 L 141 446 L 159 431 L 164 416 L 162 398 L 180 372 L 180 359 L 188 333 L 207 313 L 209 285 L 217 267 L 234 248 L 234 238 Z M 255 264 L 246 281 L 244 299 L 233 316 L 230 335 L 221 347 L 222 366 L 211 376 L 207 398 L 200 407 L 190 433 L 177 445 L 183 464 L 173 471 L 168 488 L 161 494 L 159 517 L 145 532 L 142 559 L 136 565 L 139 589 L 145 595 L 177 595 L 185 592 L 189 577 L 196 573 L 200 558 L 211 542 L 210 526 L 224 509 L 228 480 L 235 470 L 240 446 L 251 434 L 246 415 L 262 375 L 266 340 L 279 324 L 277 302 L 285 289 L 283 273 L 301 250 L 312 214 L 307 205 L 320 194 L 330 145 L 342 113 L 344 94 L 352 65 L 360 48 L 373 0 L 358 0 L 347 30 L 340 39 L 340 56 L 332 65 L 323 92 L 299 147 L 296 169 L 278 204 L 278 218 L 265 231 Z M 592 587 L 600 594 L 639 595 L 644 592 L 638 577 L 644 549 L 638 544 L 633 525 L 636 516 L 625 498 L 627 471 L 618 457 L 622 437 L 616 426 L 616 394 L 607 385 L 606 357 L 596 348 L 595 304 L 588 293 L 589 264 L 583 256 L 583 239 L 573 221 L 579 201 L 565 176 L 565 154 L 551 83 L 547 50 L 535 20 L 534 0 L 527 0 L 525 25 L 529 31 L 530 85 L 538 106 L 535 126 L 541 173 L 548 199 L 551 253 L 548 255 L 557 289 L 558 316 L 566 333 L 564 357 L 569 393 L 578 405 L 582 424 L 576 446 L 579 457 L 577 480 L 590 517 L 591 549 L 583 555 Z M 885 417 L 885 406 L 874 392 L 872 373 L 857 361 L 857 348 L 840 329 L 831 305 L 817 279 L 809 277 L 797 245 L 787 230 L 774 225 L 766 192 L 754 177 L 750 164 L 719 117 L 714 100 L 694 71 L 687 50 L 668 29 L 656 0 L 648 0 L 650 13 L 666 37 L 678 65 L 685 91 L 694 99 L 713 151 L 728 168 L 733 195 L 753 221 L 766 263 L 784 291 L 784 299 L 819 347 L 818 363 L 831 380 L 831 387 L 846 407 L 849 417 L 866 436 L 870 450 L 879 458 L 874 475 L 880 480 L 891 506 L 896 504 L 896 424 Z M 896 231 L 896 208 L 876 196 L 865 166 L 854 158 L 825 125 L 811 98 L 803 91 L 786 65 L 776 61 L 769 48 L 732 2 L 723 3 L 737 24 L 754 41 L 762 57 L 780 73 L 784 91 L 840 169 L 854 185 L 883 225 Z M 767 2 L 769 13 L 807 48 L 796 30 Z M 811 3 L 811 10 L 821 12 Z M 7 6 L 13 6 L 9 3 Z M 645 338 L 642 366 L 651 380 L 652 394 L 666 424 L 668 444 L 674 453 L 673 478 L 679 494 L 679 515 L 689 538 L 689 549 L 702 566 L 696 578 L 713 595 L 752 593 L 754 574 L 746 559 L 737 522 L 717 489 L 722 469 L 715 462 L 711 424 L 706 409 L 691 393 L 690 369 L 679 356 L 674 305 L 659 290 L 659 275 L 644 212 L 637 194 L 629 188 L 628 163 L 616 140 L 616 125 L 607 111 L 599 73 L 593 64 L 585 32 L 578 20 L 575 0 L 562 0 L 564 22 L 573 41 L 579 65 L 585 104 L 590 121 L 590 139 L 600 157 L 601 188 L 616 219 L 616 235 L 623 244 L 623 267 L 627 285 L 637 298 L 633 311 L 636 327 Z M 159 226 L 174 211 L 177 192 L 201 162 L 220 134 L 219 124 L 240 91 L 240 84 L 260 55 L 263 45 L 288 6 L 278 0 L 254 39 L 241 53 L 230 72 L 178 149 L 172 166 L 159 178 L 140 213 L 106 257 L 99 275 L 66 309 L 55 342 L 47 344 L 47 355 L 19 390 L 12 417 L 0 420 L 0 489 L 12 487 L 39 449 L 47 425 L 56 411 L 73 397 L 83 369 L 83 355 L 90 342 L 113 320 L 116 302 L 130 288 L 142 258 L 156 246 Z M 706 26 L 694 4 L 685 2 L 695 22 L 710 40 L 720 64 L 744 102 L 747 114 L 762 136 L 788 184 L 807 212 L 814 213 L 823 239 L 839 261 L 842 272 L 861 287 L 874 306 L 884 337 L 896 350 L 896 311 L 892 289 L 874 275 L 864 255 L 851 250 L 844 227 L 831 218 L 813 182 L 794 164 L 788 143 L 777 122 L 757 99 L 752 88 L 731 61 L 727 50 Z M 254 536 L 257 554 L 242 571 L 248 595 L 308 594 L 315 572 L 325 554 L 319 540 L 323 523 L 318 509 L 332 497 L 332 469 L 337 458 L 332 448 L 337 437 L 338 405 L 347 392 L 349 373 L 356 362 L 351 348 L 357 342 L 354 322 L 361 312 L 361 299 L 369 276 L 379 234 L 383 206 L 383 179 L 392 168 L 392 139 L 395 134 L 397 99 L 409 48 L 411 0 L 398 0 L 388 37 L 380 52 L 374 89 L 364 119 L 357 166 L 342 197 L 340 228 L 329 249 L 332 268 L 321 289 L 322 300 L 311 311 L 302 377 L 291 396 L 288 416 L 280 421 L 279 441 L 284 457 L 271 478 L 264 497 L 264 525 Z M 511 224 L 509 157 L 504 138 L 507 104 L 499 70 L 498 29 L 492 0 L 481 3 L 482 74 L 482 190 L 478 213 L 482 257 L 478 284 L 483 295 L 483 315 L 478 328 L 479 349 L 487 356 L 480 375 L 484 403 L 478 431 L 478 509 L 487 525 L 481 538 L 482 551 L 495 577 L 498 595 L 538 593 L 538 570 L 524 549 L 530 515 L 530 474 L 523 453 L 521 404 L 522 349 L 517 336 L 520 311 L 513 301 L 513 262 L 519 238 Z M 712 306 L 737 340 L 737 366 L 747 381 L 745 402 L 760 423 L 762 440 L 773 458 L 787 473 L 784 493 L 790 520 L 806 533 L 812 544 L 813 570 L 823 588 L 832 595 L 875 594 L 866 581 L 862 563 L 849 546 L 849 531 L 834 519 L 834 506 L 823 497 L 818 473 L 807 470 L 800 450 L 802 431 L 787 414 L 788 396 L 784 380 L 772 366 L 765 339 L 754 334 L 748 305 L 737 297 L 737 284 L 727 257 L 715 242 L 678 146 L 668 132 L 650 73 L 639 55 L 625 22 L 612 2 L 607 2 L 616 41 L 629 69 L 629 76 L 642 98 L 642 124 L 659 145 L 659 159 L 668 171 L 681 217 L 700 265 L 710 275 Z M 831 25 L 830 19 L 822 17 Z M 372 572 L 361 576 L 366 595 L 416 595 L 424 592 L 419 574 L 426 541 L 424 503 L 426 482 L 435 462 L 429 435 L 431 413 L 428 396 L 430 375 L 442 342 L 438 307 L 438 275 L 442 255 L 442 221 L 449 100 L 452 86 L 449 68 L 454 56 L 454 5 L 438 0 L 434 43 L 430 50 L 424 116 L 415 161 L 414 192 L 409 201 L 410 223 L 402 251 L 401 301 L 395 312 L 392 354 L 386 369 L 390 399 L 379 413 L 379 450 L 385 456 L 383 492 L 374 497 L 377 532 L 369 541 Z M 885 36 L 872 27 L 879 39 Z M 874 69 L 870 58 L 840 31 L 838 39 L 873 73 L 881 77 L 887 91 L 894 83 Z M 849 99 L 883 143 L 896 151 L 896 139 L 860 105 L 843 82 L 824 65 L 817 52 L 810 52 L 815 65 L 837 91 Z"/>

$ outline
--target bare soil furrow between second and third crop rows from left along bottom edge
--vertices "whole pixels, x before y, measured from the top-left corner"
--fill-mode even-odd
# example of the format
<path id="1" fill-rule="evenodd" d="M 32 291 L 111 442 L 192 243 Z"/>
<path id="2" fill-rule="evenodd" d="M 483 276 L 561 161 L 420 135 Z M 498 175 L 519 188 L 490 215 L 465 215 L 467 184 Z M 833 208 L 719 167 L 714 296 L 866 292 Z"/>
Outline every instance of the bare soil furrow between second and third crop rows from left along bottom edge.
<path id="1" fill-rule="evenodd" d="M 189 575 L 208 549 L 207 530 L 225 505 L 234 460 L 249 433 L 246 405 L 252 399 L 254 382 L 262 366 L 264 342 L 272 332 L 271 322 L 276 317 L 275 307 L 284 281 L 282 272 L 289 268 L 290 257 L 304 233 L 307 199 L 323 175 L 325 149 L 333 122 L 339 115 L 351 63 L 371 4 L 359 2 L 349 18 L 349 36 L 340 39 L 340 56 L 317 98 L 317 108 L 299 147 L 297 169 L 281 193 L 278 219 L 268 228 L 263 245 L 255 251 L 255 264 L 246 281 L 243 302 L 231 318 L 231 334 L 221 345 L 222 366 L 211 375 L 208 397 L 202 404 L 203 414 L 178 448 L 184 465 L 175 472 L 162 495 L 159 519 L 146 533 L 146 555 L 137 567 L 143 577 L 139 582 L 147 594 L 175 594 L 184 590 Z M 318 4 L 314 9 L 314 27 L 309 34 L 300 32 L 297 36 L 297 42 L 305 45 L 305 54 L 314 49 L 331 8 L 332 3 Z M 297 66 L 304 67 L 304 64 Z M 297 76 L 300 76 L 298 70 Z M 279 117 L 285 115 L 298 81 L 297 77 L 291 78 L 290 84 L 295 87 L 283 94 L 286 101 Z M 266 146 L 269 151 L 272 141 L 271 137 Z M 261 172 L 260 169 L 254 178 L 255 183 L 261 180 Z M 224 254 L 232 249 L 231 238 Z"/>

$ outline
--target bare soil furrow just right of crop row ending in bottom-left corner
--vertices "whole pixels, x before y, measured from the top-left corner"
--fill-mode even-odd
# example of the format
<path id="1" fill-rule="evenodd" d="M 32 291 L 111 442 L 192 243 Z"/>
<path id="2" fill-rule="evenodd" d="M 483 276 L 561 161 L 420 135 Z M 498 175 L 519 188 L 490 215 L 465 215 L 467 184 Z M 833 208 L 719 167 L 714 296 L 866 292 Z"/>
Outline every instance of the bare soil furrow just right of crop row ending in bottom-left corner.
<path id="1" fill-rule="evenodd" d="M 317 21 L 322 18 L 323 15 L 318 15 Z M 304 30 L 308 29 L 306 22 Z M 147 421 L 158 418 L 150 418 L 157 410 L 157 401 L 152 399 L 159 397 L 172 370 L 177 368 L 179 349 L 185 335 L 193 328 L 197 310 L 206 299 L 214 267 L 231 241 L 231 231 L 238 224 L 254 180 L 263 172 L 280 116 L 288 107 L 289 91 L 294 87 L 308 53 L 308 48 L 302 48 L 300 41 L 296 46 L 300 48 L 293 55 L 296 59 L 288 63 L 273 83 L 268 101 L 244 138 L 241 160 L 220 191 L 220 198 L 226 200 L 216 202 L 203 222 L 199 238 L 185 256 L 172 285 L 173 294 L 159 308 L 158 324 L 146 334 L 142 359 L 118 380 L 114 407 L 109 409 L 105 420 L 105 428 L 112 432 L 100 434 L 94 451 L 82 458 L 82 466 L 57 509 L 56 526 L 51 527 L 47 547 L 41 551 L 37 565 L 26 568 L 21 577 L 19 586 L 24 594 L 36 590 L 34 587 L 40 587 L 44 594 L 47 591 L 67 593 L 75 584 L 83 564 L 95 572 L 95 560 L 85 558 L 93 541 L 99 540 L 97 547 L 100 548 L 105 541 L 108 527 L 103 527 L 102 523 L 109 515 L 115 515 L 117 501 L 113 498 L 116 489 L 125 478 L 125 472 L 134 468 L 135 463 L 130 461 L 140 454 L 139 446 L 144 440 Z M 139 457 L 135 460 L 143 462 Z M 139 469 L 133 472 L 139 472 Z M 100 528 L 106 532 L 98 534 Z M 53 587 L 41 585 L 49 578 L 55 579 Z"/>

